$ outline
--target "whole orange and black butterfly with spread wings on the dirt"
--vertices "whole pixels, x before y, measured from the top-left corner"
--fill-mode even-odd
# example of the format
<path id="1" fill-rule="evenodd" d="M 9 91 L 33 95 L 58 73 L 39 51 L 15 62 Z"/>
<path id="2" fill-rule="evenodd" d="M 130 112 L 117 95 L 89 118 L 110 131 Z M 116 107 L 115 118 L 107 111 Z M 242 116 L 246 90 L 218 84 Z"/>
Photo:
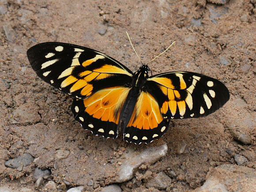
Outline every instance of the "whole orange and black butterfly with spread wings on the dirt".
<path id="1" fill-rule="evenodd" d="M 87 47 L 59 42 L 35 45 L 28 60 L 41 79 L 74 98 L 75 120 L 94 135 L 150 143 L 170 119 L 203 117 L 230 98 L 223 83 L 193 72 L 149 76 Z"/>

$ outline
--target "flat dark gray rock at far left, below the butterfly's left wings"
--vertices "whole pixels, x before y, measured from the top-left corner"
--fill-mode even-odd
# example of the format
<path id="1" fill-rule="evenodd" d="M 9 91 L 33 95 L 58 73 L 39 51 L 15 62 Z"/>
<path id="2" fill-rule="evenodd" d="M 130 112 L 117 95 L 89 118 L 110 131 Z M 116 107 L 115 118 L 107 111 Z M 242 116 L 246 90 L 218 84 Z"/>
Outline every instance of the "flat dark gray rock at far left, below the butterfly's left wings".
<path id="1" fill-rule="evenodd" d="M 24 153 L 21 156 L 15 157 L 4 162 L 6 167 L 17 169 L 19 166 L 29 166 L 34 161 L 34 157 L 29 153 Z"/>

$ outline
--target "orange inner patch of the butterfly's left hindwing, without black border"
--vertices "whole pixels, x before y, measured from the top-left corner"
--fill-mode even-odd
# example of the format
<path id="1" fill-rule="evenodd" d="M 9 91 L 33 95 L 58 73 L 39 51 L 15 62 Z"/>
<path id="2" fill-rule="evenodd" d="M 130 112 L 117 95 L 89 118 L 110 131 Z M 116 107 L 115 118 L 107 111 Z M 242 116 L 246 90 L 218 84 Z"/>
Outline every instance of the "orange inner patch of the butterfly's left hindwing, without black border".
<path id="1" fill-rule="evenodd" d="M 124 105 L 130 89 L 111 87 L 99 90 L 83 100 L 85 111 L 94 118 L 118 124 L 120 109 Z"/>

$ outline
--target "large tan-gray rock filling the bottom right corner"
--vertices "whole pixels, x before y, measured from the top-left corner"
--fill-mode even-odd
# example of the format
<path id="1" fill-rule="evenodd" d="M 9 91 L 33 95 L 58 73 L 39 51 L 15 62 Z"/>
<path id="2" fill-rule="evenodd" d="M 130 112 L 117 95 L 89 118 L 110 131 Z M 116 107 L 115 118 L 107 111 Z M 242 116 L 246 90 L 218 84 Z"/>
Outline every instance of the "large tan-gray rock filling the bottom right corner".
<path id="1" fill-rule="evenodd" d="M 255 169 L 237 165 L 221 165 L 211 169 L 202 187 L 193 192 L 254 192 Z"/>

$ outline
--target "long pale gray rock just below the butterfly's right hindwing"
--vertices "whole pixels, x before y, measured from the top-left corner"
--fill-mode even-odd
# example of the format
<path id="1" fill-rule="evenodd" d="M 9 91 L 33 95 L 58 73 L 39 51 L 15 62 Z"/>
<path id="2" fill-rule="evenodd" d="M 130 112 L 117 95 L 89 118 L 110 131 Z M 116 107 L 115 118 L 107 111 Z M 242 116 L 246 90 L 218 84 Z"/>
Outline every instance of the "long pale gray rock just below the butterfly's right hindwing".
<path id="1" fill-rule="evenodd" d="M 133 148 L 127 149 L 125 162 L 120 165 L 120 171 L 116 182 L 122 183 L 132 179 L 133 174 L 142 164 L 152 164 L 160 158 L 166 156 L 167 145 L 145 148 L 143 151 L 134 151 Z"/>

